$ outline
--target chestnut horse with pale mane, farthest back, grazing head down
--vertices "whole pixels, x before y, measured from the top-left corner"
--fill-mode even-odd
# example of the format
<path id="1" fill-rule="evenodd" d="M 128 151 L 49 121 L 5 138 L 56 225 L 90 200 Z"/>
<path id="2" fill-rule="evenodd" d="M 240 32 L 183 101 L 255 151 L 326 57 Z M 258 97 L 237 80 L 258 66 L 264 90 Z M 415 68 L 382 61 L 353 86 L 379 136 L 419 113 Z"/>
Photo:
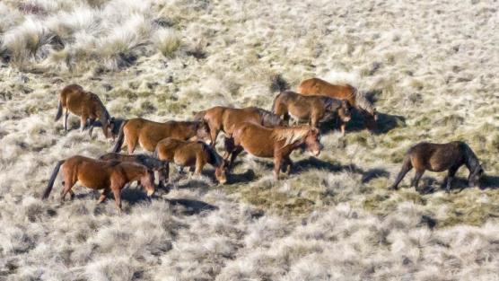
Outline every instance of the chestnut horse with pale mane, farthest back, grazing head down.
<path id="1" fill-rule="evenodd" d="M 361 112 L 363 118 L 367 121 L 367 126 L 370 128 L 376 127 L 378 121 L 378 112 L 372 105 L 372 102 L 367 100 L 365 94 L 357 91 L 357 89 L 349 84 L 332 84 L 320 78 L 311 78 L 303 80 L 298 85 L 297 92 L 303 95 L 324 95 L 331 98 L 346 100 L 356 110 Z"/>

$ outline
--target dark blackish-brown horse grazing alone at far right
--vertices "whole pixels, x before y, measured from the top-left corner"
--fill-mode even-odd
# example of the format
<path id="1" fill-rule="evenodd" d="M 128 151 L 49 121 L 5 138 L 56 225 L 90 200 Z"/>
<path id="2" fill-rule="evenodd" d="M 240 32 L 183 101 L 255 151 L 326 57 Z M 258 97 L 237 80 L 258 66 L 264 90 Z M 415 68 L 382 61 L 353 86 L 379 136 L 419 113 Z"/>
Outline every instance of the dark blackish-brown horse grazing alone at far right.
<path id="1" fill-rule="evenodd" d="M 417 189 L 419 179 L 426 170 L 429 171 L 448 171 L 446 191 L 451 190 L 451 182 L 460 169 L 460 166 L 466 165 L 469 170 L 468 186 L 474 187 L 477 181 L 484 173 L 484 169 L 478 161 L 477 155 L 471 148 L 463 142 L 451 142 L 447 144 L 432 144 L 422 142 L 412 146 L 407 151 L 402 163 L 402 169 L 398 172 L 397 180 L 390 189 L 398 189 L 398 183 L 412 168 L 416 169 L 416 175 L 411 182 L 411 187 Z"/>

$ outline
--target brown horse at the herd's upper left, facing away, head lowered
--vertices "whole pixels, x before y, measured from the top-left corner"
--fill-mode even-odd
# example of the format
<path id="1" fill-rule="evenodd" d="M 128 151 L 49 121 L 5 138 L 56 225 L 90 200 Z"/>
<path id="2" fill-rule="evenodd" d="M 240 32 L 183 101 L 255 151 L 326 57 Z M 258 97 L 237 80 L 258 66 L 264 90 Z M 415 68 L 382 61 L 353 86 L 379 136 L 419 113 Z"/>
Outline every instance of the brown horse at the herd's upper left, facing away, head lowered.
<path id="1" fill-rule="evenodd" d="M 80 128 L 83 131 L 87 127 L 89 135 L 92 137 L 94 122 L 101 120 L 104 136 L 110 137 L 109 125 L 111 118 L 101 99 L 93 92 L 83 91 L 83 87 L 78 84 L 67 85 L 59 95 L 59 105 L 57 107 L 56 121 L 61 118 L 63 109 L 66 110 L 64 116 L 64 130 L 67 132 L 67 117 L 69 111 L 80 117 Z"/>

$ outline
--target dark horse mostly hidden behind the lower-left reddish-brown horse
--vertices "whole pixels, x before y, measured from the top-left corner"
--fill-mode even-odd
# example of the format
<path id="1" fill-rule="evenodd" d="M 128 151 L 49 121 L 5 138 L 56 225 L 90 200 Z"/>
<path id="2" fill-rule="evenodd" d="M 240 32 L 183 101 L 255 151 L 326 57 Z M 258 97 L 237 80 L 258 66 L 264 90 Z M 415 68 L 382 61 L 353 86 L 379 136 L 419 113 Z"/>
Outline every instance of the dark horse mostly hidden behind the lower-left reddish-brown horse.
<path id="1" fill-rule="evenodd" d="M 109 153 L 103 154 L 99 157 L 102 161 L 118 161 L 118 162 L 136 162 L 138 164 L 144 165 L 147 169 L 152 171 L 158 171 L 159 176 L 159 188 L 164 189 L 162 175 L 164 174 L 164 169 L 168 169 L 168 162 L 159 160 L 156 157 L 147 154 L 116 154 Z M 138 185 L 138 182 L 137 182 Z M 168 191 L 168 190 L 167 190 Z"/>

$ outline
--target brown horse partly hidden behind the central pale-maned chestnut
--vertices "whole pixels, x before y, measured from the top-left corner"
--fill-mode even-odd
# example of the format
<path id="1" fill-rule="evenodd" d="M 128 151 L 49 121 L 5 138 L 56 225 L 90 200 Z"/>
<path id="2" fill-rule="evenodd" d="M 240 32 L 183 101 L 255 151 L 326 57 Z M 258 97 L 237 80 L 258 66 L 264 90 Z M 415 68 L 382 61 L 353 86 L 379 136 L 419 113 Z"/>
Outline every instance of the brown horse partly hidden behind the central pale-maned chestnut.
<path id="1" fill-rule="evenodd" d="M 195 120 L 204 120 L 210 127 L 212 145 L 215 145 L 216 137 L 220 131 L 225 135 L 232 134 L 235 124 L 241 122 L 255 122 L 265 127 L 284 126 L 284 122 L 274 113 L 257 107 L 243 109 L 232 109 L 223 106 L 215 106 L 209 110 L 197 112 Z"/>

